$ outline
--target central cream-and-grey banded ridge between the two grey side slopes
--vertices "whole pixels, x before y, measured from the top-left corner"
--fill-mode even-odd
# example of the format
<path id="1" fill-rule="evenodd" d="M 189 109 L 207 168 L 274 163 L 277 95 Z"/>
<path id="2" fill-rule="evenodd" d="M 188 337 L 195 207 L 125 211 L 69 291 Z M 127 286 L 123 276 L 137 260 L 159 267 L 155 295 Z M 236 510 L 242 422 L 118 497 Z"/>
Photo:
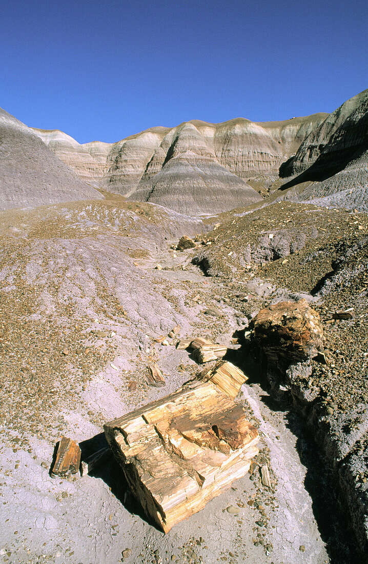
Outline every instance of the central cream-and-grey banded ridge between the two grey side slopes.
<path id="1" fill-rule="evenodd" d="M 101 143 L 98 150 L 96 142 L 79 145 L 60 131 L 34 132 L 81 178 L 131 200 L 193 215 L 260 200 L 247 180 L 264 190 L 281 162 L 326 115 L 265 123 L 194 120 Z"/>

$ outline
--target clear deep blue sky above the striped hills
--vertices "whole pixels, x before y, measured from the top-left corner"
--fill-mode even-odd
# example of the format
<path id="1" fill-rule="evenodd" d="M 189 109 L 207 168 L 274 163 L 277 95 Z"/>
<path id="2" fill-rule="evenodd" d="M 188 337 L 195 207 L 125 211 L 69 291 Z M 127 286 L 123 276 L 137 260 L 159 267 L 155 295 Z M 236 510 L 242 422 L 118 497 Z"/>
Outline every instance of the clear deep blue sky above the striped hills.
<path id="1" fill-rule="evenodd" d="M 1 0 L 0 106 L 79 143 L 331 112 L 368 87 L 367 0 Z"/>

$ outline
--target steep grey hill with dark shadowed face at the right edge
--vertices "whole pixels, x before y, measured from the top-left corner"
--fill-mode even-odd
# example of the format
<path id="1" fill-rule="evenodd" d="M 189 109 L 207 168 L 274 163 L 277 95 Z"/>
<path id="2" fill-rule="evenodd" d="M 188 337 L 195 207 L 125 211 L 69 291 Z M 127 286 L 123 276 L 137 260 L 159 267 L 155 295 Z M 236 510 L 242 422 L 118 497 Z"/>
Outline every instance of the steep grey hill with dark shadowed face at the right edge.
<path id="1" fill-rule="evenodd" d="M 366 211 L 368 90 L 347 100 L 280 167 L 285 198 Z"/>

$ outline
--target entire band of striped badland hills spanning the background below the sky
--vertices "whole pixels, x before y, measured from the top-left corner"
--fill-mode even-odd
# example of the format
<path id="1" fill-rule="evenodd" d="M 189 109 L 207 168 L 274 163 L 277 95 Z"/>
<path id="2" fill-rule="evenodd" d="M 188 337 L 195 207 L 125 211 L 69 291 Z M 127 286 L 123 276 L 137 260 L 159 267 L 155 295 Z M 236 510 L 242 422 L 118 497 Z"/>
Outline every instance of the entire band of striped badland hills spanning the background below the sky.
<path id="1" fill-rule="evenodd" d="M 219 213 L 270 194 L 272 200 L 368 209 L 368 90 L 331 114 L 275 122 L 192 120 L 117 143 L 79 144 L 59 130 L 29 128 L 5 111 L 0 131 L 5 207 L 102 197 L 95 187 L 189 215 Z"/>

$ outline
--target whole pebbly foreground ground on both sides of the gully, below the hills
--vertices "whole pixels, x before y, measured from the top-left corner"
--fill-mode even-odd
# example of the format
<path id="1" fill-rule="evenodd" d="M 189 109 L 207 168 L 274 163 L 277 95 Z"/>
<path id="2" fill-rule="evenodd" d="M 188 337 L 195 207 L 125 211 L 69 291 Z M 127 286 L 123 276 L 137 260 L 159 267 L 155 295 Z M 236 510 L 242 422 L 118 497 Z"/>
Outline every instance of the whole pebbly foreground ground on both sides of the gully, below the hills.
<path id="1" fill-rule="evenodd" d="M 364 214 L 280 202 L 202 221 L 109 196 L 8 210 L 1 220 L 4 562 L 360 561 Z M 176 250 L 182 235 L 195 246 Z M 276 237 L 302 243 L 281 243 L 276 257 Z M 321 316 L 323 357 L 282 371 L 265 362 L 249 323 L 271 303 L 300 298 Z M 334 318 L 345 310 L 348 319 Z M 226 345 L 249 378 L 237 401 L 259 430 L 260 452 L 250 473 L 163 535 L 113 458 L 82 478 L 51 478 L 50 466 L 61 435 L 94 452 L 106 421 L 196 376 L 201 367 L 176 349 L 190 336 Z M 147 384 L 149 362 L 165 386 Z"/>

